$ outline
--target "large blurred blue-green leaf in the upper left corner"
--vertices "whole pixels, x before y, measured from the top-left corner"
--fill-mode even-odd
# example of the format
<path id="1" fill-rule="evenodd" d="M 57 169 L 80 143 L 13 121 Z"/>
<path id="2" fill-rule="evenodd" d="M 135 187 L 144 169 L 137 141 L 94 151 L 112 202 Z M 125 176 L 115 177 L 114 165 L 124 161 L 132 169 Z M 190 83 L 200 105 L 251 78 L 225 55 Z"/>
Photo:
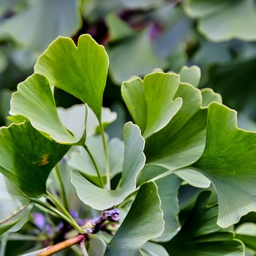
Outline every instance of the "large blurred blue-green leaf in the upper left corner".
<path id="1" fill-rule="evenodd" d="M 81 25 L 79 7 L 78 0 L 35 1 L 25 11 L 6 19 L 0 32 L 42 52 L 57 36 L 72 36 L 78 31 Z"/>

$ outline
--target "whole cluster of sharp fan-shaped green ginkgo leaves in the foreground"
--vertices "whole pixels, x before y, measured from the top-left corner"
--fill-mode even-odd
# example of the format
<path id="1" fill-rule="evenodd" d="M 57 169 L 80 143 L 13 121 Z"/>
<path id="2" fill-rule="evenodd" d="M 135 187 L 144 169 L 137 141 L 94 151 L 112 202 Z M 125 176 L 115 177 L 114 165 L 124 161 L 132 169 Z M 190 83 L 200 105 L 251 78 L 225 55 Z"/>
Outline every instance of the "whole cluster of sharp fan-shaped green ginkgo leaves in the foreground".
<path id="1" fill-rule="evenodd" d="M 0 129 L 2 243 L 31 223 L 35 205 L 69 225 L 59 227 L 48 216 L 49 235 L 45 217 L 43 224 L 34 218 L 45 245 L 85 234 L 89 255 L 242 256 L 244 244 L 255 249 L 254 236 L 240 229 L 236 237 L 233 225 L 256 211 L 256 133 L 238 128 L 236 112 L 219 94 L 197 89 L 200 69 L 185 66 L 179 74 L 158 69 L 124 81 L 122 98 L 134 123 L 124 125 L 124 142 L 109 140 L 104 128 L 116 114 L 102 107 L 108 63 L 90 35 L 81 35 L 77 46 L 59 37 L 12 94 L 13 123 Z M 56 108 L 55 88 L 83 103 Z M 63 157 L 68 167 L 60 171 Z M 59 187 L 48 178 L 51 171 Z M 209 202 L 211 193 L 203 191 L 184 208 L 178 190 L 185 184 L 198 188 L 195 197 L 212 184 L 217 198 Z M 78 204 L 91 212 L 87 220 L 71 211 Z M 106 221 L 96 230 L 91 217 L 113 208 L 120 223 Z M 38 237 L 29 229 L 18 234 Z M 82 254 L 72 247 L 77 255 L 86 248 L 81 245 Z M 26 255 L 51 255 L 47 249 Z"/>

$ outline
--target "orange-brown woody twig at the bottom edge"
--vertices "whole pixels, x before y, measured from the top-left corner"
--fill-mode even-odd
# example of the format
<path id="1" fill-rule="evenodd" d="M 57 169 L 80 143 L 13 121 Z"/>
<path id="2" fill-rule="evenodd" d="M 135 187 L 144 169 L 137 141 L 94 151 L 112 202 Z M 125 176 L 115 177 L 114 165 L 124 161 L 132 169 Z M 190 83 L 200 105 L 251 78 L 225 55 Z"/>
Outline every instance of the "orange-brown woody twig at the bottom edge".
<path id="1" fill-rule="evenodd" d="M 38 254 L 38 256 L 50 256 L 52 254 L 55 254 L 59 251 L 63 251 L 64 249 L 67 249 L 75 244 L 79 244 L 81 242 L 84 242 L 85 240 L 89 241 L 87 234 L 79 234 L 75 237 L 71 237 L 68 240 L 65 240 L 63 242 L 60 242 L 59 244 L 55 244 L 50 246 L 46 251 L 41 252 Z"/>

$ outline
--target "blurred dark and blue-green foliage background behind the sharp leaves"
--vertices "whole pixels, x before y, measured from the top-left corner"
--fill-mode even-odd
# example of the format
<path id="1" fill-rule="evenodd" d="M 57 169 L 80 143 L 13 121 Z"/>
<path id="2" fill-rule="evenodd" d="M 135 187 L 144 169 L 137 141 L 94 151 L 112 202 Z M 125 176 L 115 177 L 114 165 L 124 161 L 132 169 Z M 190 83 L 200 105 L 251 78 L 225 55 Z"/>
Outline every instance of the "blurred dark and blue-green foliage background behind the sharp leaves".
<path id="1" fill-rule="evenodd" d="M 110 139 L 122 139 L 123 125 L 131 120 L 121 98 L 122 81 L 157 68 L 178 73 L 185 65 L 199 66 L 198 87 L 220 93 L 223 104 L 238 111 L 239 127 L 256 131 L 255 0 L 0 0 L 1 125 L 9 124 L 12 92 L 33 73 L 48 45 L 59 35 L 76 43 L 85 33 L 105 46 L 110 59 L 103 106 L 118 114 L 107 128 Z M 81 103 L 61 89 L 54 97 L 64 108 Z M 200 191 L 181 186 L 181 223 Z M 216 202 L 216 193 L 211 200 Z M 239 224 L 247 222 L 256 223 L 256 214 L 247 214 Z M 6 255 L 32 245 L 14 239 Z"/>

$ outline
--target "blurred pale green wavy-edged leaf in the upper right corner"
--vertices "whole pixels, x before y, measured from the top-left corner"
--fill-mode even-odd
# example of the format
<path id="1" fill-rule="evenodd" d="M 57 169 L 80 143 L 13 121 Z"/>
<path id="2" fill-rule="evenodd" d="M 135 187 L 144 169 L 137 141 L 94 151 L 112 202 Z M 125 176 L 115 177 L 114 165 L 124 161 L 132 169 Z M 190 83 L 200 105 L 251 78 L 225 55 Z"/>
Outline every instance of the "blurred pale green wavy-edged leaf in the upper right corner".
<path id="1" fill-rule="evenodd" d="M 256 39 L 256 7 L 253 0 L 188 0 L 185 10 L 190 16 L 200 19 L 198 29 L 211 41 Z"/>

